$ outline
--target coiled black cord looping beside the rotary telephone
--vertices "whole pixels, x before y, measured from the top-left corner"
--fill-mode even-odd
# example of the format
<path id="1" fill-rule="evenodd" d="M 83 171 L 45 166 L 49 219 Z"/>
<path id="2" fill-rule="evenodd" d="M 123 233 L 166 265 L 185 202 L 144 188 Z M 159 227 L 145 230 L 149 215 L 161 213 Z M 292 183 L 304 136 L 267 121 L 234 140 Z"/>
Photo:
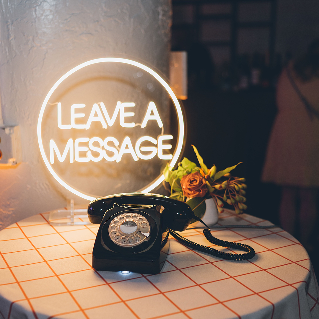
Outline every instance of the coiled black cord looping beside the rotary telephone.
<path id="1" fill-rule="evenodd" d="M 196 215 L 193 216 L 194 219 L 200 221 L 201 223 L 203 223 L 207 228 L 205 228 L 203 230 L 204 236 L 206 237 L 206 239 L 211 242 L 214 245 L 217 246 L 222 246 L 222 247 L 226 247 L 226 248 L 233 248 L 233 249 L 239 249 L 239 250 L 243 250 L 246 251 L 247 253 L 245 254 L 229 254 L 229 253 L 225 253 L 223 251 L 211 248 L 211 247 L 207 247 L 207 246 L 203 246 L 200 244 L 197 244 L 194 241 L 190 241 L 184 237 L 182 237 L 180 234 L 177 234 L 174 230 L 169 229 L 169 233 L 180 243 L 182 243 L 185 246 L 188 246 L 190 248 L 196 249 L 198 251 L 202 251 L 204 253 L 210 254 L 212 256 L 216 256 L 222 259 L 228 259 L 228 260 L 247 260 L 250 258 L 253 258 L 255 256 L 255 250 L 248 246 L 248 245 L 244 245 L 244 244 L 240 244 L 238 242 L 231 242 L 231 241 L 223 241 L 220 240 L 216 237 L 214 237 L 211 234 L 211 229 L 200 219 L 198 218 Z"/>

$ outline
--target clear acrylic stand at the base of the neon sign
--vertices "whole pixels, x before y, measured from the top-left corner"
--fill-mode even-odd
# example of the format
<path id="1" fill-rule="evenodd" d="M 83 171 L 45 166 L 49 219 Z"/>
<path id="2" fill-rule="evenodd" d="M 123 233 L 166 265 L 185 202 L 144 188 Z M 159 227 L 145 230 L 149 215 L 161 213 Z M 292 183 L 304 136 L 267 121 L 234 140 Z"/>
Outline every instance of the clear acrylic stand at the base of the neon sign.
<path id="1" fill-rule="evenodd" d="M 87 217 L 87 208 L 74 209 L 74 200 L 70 201 L 70 209 L 50 211 L 49 224 L 53 226 L 73 226 L 91 224 Z"/>

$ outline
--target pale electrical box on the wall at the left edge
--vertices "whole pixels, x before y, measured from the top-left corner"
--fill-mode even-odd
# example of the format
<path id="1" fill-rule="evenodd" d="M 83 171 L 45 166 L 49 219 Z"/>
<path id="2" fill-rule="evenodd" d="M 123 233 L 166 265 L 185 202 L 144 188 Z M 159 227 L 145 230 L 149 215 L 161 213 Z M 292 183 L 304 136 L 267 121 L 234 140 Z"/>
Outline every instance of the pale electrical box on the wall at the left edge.
<path id="1" fill-rule="evenodd" d="M 0 128 L 0 168 L 17 165 L 22 161 L 19 126 Z"/>

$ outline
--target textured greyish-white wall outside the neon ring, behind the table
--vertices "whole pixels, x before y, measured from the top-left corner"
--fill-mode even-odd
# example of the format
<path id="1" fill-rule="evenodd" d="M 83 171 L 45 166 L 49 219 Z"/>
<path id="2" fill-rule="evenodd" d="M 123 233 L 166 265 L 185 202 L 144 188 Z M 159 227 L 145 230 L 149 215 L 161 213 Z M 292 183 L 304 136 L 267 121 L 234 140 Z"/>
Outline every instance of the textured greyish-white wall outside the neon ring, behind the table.
<path id="1" fill-rule="evenodd" d="M 3 1 L 0 87 L 4 123 L 19 125 L 23 163 L 0 170 L 0 228 L 66 205 L 42 163 L 37 120 L 61 72 L 111 53 L 127 54 L 168 75 L 167 0 Z"/>

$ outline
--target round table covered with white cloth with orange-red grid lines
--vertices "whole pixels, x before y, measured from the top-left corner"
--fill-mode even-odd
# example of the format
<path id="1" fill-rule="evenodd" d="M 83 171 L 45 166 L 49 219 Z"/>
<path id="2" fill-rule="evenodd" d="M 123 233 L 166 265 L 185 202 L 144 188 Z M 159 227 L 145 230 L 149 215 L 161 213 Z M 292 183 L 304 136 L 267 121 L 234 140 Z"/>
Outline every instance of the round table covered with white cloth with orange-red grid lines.
<path id="1" fill-rule="evenodd" d="M 48 213 L 35 215 L 0 232 L 0 317 L 319 317 L 309 256 L 280 228 L 213 229 L 219 239 L 255 249 L 253 259 L 239 262 L 188 249 L 171 238 L 161 273 L 145 275 L 92 269 L 99 225 L 51 226 L 47 220 Z M 226 211 L 218 224 L 271 223 Z M 208 244 L 201 229 L 182 234 Z"/>

